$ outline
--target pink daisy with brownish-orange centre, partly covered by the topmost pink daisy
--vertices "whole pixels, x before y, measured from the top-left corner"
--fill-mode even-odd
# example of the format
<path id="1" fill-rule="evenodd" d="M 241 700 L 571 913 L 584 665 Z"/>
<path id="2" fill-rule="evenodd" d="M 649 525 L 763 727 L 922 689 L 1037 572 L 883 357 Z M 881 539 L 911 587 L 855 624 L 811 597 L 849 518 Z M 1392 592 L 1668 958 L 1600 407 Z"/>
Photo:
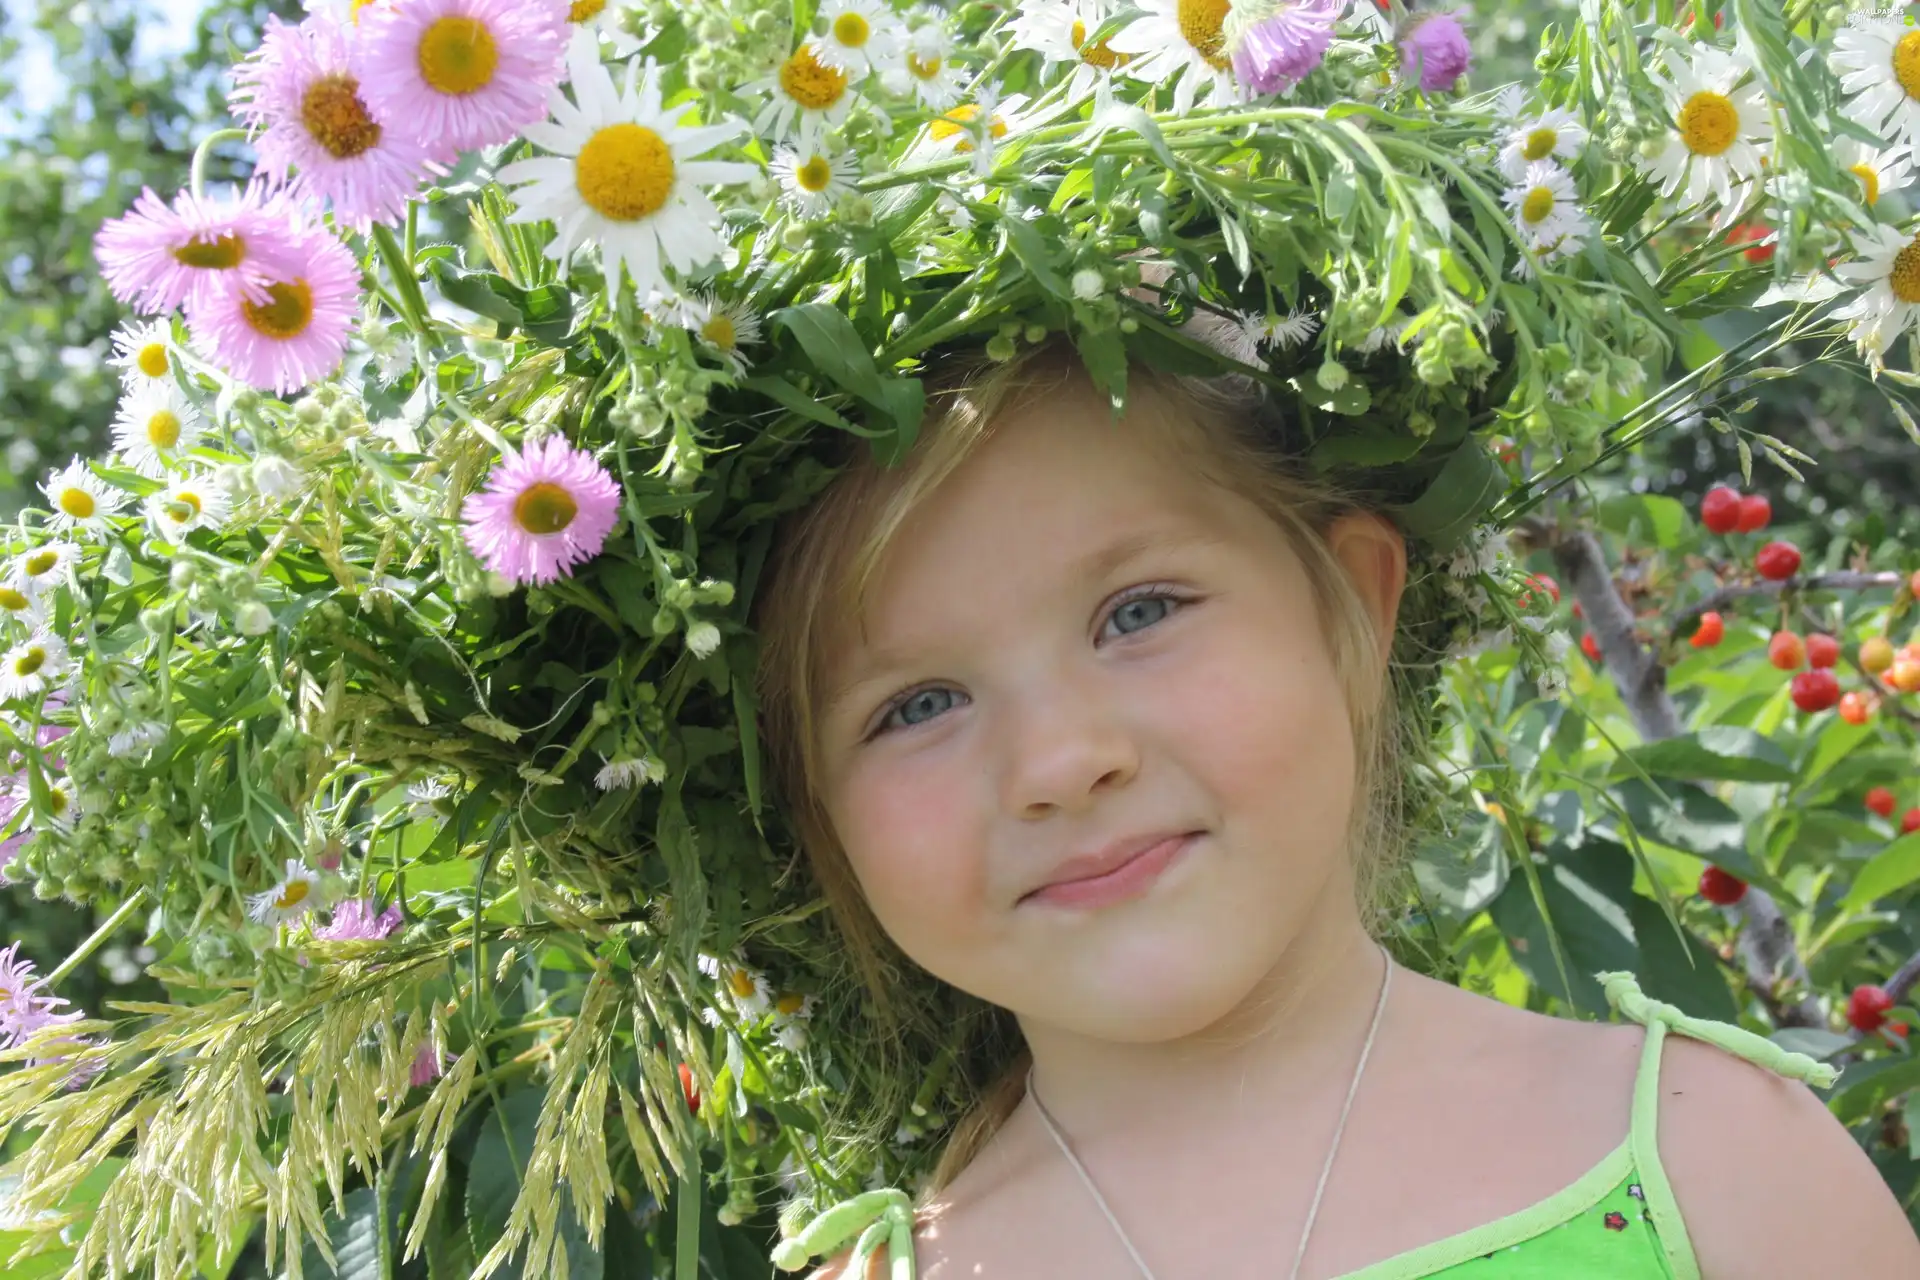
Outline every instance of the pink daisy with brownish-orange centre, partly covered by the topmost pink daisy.
<path id="1" fill-rule="evenodd" d="M 386 129 L 367 109 L 348 69 L 349 33 L 324 15 L 298 27 L 267 19 L 259 48 L 234 67 L 234 115 L 265 129 L 253 142 L 269 180 L 365 232 L 397 223 L 426 173 L 445 173 L 405 130 Z"/>

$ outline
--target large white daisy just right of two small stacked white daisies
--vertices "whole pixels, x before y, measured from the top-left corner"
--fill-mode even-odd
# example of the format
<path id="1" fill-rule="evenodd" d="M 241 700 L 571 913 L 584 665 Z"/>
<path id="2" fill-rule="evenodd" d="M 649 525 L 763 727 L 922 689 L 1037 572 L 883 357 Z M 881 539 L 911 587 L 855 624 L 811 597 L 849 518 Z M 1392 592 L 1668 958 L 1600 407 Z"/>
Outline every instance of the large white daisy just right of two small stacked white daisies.
<path id="1" fill-rule="evenodd" d="M 1753 65 L 1736 54 L 1701 48 L 1693 61 L 1668 54 L 1649 79 L 1661 86 L 1672 109 L 1672 132 L 1655 159 L 1640 167 L 1661 182 L 1661 196 L 1684 194 L 1693 205 L 1718 196 L 1722 207 L 1736 207 L 1736 184 L 1761 177 L 1764 148 L 1774 138 L 1766 115 L 1766 96 L 1759 84 L 1740 88 Z"/>

